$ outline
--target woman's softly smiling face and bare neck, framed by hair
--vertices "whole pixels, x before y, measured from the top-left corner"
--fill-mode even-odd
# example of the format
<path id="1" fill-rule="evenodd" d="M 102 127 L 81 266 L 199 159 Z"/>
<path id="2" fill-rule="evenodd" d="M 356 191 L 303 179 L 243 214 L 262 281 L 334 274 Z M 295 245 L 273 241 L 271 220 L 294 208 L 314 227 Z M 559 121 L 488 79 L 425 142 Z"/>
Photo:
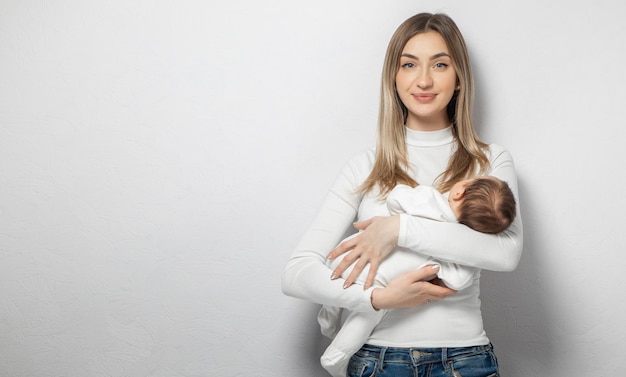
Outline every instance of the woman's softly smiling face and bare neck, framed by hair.
<path id="1" fill-rule="evenodd" d="M 457 87 L 452 58 L 441 35 L 428 31 L 404 46 L 396 90 L 408 110 L 406 126 L 434 131 L 450 125 L 446 108 Z"/>

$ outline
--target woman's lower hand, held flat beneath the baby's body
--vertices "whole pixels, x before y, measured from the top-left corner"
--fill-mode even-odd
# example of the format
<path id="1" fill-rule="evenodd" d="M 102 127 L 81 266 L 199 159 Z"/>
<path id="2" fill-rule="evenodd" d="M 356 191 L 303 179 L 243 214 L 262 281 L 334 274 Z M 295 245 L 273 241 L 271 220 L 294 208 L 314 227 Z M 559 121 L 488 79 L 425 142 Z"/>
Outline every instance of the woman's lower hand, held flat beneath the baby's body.
<path id="1" fill-rule="evenodd" d="M 456 293 L 436 277 L 438 271 L 439 266 L 428 265 L 394 278 L 385 288 L 372 291 L 372 306 L 376 310 L 410 308 Z"/>

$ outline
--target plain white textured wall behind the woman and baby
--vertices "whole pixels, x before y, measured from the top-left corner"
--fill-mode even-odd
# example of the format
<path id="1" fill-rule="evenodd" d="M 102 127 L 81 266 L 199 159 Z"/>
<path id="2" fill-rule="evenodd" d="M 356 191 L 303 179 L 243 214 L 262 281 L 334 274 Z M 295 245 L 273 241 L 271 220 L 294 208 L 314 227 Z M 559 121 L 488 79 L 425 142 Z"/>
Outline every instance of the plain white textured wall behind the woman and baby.
<path id="1" fill-rule="evenodd" d="M 503 375 L 624 371 L 623 2 L 0 4 L 1 376 L 323 375 L 280 274 L 424 10 L 517 163 L 524 256 L 483 278 Z"/>

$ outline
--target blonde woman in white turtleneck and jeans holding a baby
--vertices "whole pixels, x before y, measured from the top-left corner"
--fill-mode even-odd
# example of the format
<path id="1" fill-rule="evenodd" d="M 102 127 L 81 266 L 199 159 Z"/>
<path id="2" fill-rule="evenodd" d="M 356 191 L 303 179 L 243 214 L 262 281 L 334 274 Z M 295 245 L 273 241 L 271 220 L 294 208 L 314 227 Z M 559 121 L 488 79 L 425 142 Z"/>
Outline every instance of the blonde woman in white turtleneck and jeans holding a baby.
<path id="1" fill-rule="evenodd" d="M 381 198 L 397 184 L 431 185 L 445 193 L 477 175 L 506 181 L 519 203 L 510 154 L 476 136 L 473 90 L 467 48 L 449 17 L 422 13 L 400 25 L 383 67 L 377 148 L 343 169 L 287 264 L 287 295 L 361 312 L 396 309 L 385 314 L 351 358 L 349 376 L 498 374 L 482 326 L 478 278 L 455 292 L 431 282 L 436 271 L 425 267 L 398 276 L 387 287 L 371 287 L 378 265 L 396 247 L 481 269 L 517 266 L 519 215 L 496 235 L 407 215 L 380 216 L 386 213 Z M 334 248 L 355 218 L 359 235 Z M 326 257 L 346 252 L 331 272 Z M 366 266 L 366 284 L 352 285 Z"/>

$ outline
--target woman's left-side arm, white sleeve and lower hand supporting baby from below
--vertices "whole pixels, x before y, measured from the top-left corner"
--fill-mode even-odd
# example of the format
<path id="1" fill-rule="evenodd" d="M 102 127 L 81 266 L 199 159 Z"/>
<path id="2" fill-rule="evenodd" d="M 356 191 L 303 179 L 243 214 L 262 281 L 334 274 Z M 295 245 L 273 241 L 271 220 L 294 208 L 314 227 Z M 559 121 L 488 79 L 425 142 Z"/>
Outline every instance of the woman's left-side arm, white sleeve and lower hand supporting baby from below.
<path id="1" fill-rule="evenodd" d="M 364 289 L 359 285 L 344 288 L 346 281 L 341 277 L 331 280 L 331 270 L 326 266 L 328 251 L 352 226 L 361 201 L 357 188 L 369 174 L 372 161 L 372 153 L 353 159 L 336 180 L 287 263 L 282 278 L 282 290 L 286 295 L 369 312 L 374 310 L 373 305 L 378 309 L 415 306 L 455 293 L 428 282 L 436 274 L 430 267 L 393 279 L 386 288 L 376 288 L 376 297 L 373 288 Z"/>

